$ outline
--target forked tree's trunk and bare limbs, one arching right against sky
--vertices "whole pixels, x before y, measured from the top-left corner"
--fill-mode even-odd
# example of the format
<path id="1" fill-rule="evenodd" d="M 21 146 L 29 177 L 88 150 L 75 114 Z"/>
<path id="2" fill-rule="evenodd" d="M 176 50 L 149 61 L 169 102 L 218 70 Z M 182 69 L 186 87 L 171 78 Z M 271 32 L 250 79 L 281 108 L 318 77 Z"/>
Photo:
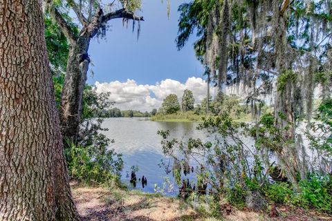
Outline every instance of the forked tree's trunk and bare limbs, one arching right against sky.
<path id="1" fill-rule="evenodd" d="M 62 135 L 75 142 L 80 129 L 83 90 L 90 64 L 88 55 L 90 40 L 98 33 L 104 23 L 107 23 L 107 21 L 111 19 L 124 18 L 137 21 L 144 20 L 142 17 L 136 17 L 133 12 L 125 8 L 109 12 L 107 15 L 104 15 L 102 9 L 98 8 L 93 19 L 88 21 L 84 15 L 82 15 L 82 12 L 74 7 L 77 17 L 82 22 L 82 26 L 84 26 L 82 30 L 80 30 L 79 36 L 75 37 L 56 8 L 53 8 L 51 11 L 53 12 L 51 15 L 57 20 L 62 31 L 68 38 L 68 41 L 71 42 L 64 88 L 62 90 L 60 119 Z"/>

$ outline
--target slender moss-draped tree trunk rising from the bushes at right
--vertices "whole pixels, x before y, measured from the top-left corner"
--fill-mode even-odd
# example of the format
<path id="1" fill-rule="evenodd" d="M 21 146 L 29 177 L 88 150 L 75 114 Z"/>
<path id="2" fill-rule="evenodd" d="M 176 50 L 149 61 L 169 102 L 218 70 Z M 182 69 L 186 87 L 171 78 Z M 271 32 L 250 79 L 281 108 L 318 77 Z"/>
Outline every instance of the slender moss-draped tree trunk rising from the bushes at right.
<path id="1" fill-rule="evenodd" d="M 285 1 L 286 2 L 286 1 Z M 279 3 L 274 3 L 274 16 L 277 26 L 275 27 L 275 54 L 277 56 L 277 70 L 280 75 L 292 68 L 293 55 L 287 43 L 287 21 L 288 17 L 279 12 Z M 286 10 L 286 9 L 285 9 Z M 283 11 L 284 12 L 284 11 Z M 282 137 L 286 141 L 280 151 L 277 151 L 277 158 L 282 169 L 286 171 L 288 179 L 298 187 L 297 173 L 300 171 L 299 150 L 295 145 L 295 108 L 297 102 L 296 82 L 288 79 L 282 90 L 277 90 L 275 95 L 275 127 L 282 130 Z M 278 88 L 278 84 L 277 84 Z"/>

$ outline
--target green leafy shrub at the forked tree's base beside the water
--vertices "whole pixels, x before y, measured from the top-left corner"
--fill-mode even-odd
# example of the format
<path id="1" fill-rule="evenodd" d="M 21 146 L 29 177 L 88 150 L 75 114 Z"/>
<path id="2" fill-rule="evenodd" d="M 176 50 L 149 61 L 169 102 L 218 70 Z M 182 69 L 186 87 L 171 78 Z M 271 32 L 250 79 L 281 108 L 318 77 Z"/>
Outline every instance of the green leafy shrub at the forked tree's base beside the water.
<path id="1" fill-rule="evenodd" d="M 84 88 L 82 123 L 77 143 L 67 141 L 65 149 L 68 171 L 71 178 L 86 184 L 120 184 L 122 156 L 109 148 L 114 142 L 101 131 L 103 119 L 95 118 L 95 113 L 109 108 L 107 94 L 97 94 L 91 86 Z"/>

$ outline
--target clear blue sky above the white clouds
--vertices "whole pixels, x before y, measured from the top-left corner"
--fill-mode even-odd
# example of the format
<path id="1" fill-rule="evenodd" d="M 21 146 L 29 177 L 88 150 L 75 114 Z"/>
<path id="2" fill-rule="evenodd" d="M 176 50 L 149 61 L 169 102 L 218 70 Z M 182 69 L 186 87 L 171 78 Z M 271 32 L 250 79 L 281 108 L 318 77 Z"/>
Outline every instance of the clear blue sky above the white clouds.
<path id="1" fill-rule="evenodd" d="M 197 61 L 192 37 L 185 48 L 178 51 L 175 44 L 178 32 L 178 6 L 184 1 L 171 1 L 167 18 L 166 0 L 143 0 L 142 11 L 138 12 L 145 21 L 140 24 L 140 38 L 122 26 L 122 19 L 109 22 L 107 38 L 93 39 L 89 55 L 93 61 L 94 76 L 88 74 L 88 84 L 95 81 L 127 81 L 137 84 L 156 84 L 163 79 L 174 79 L 185 83 L 188 77 L 201 77 L 203 67 Z M 136 23 L 137 24 L 137 23 Z"/>

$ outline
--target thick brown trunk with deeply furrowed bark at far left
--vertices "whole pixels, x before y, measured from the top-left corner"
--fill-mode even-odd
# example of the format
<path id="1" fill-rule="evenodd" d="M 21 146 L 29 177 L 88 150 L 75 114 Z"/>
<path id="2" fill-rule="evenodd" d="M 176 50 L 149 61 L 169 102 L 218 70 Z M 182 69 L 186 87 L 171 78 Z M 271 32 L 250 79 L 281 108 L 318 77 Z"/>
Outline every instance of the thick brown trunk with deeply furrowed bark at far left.
<path id="1" fill-rule="evenodd" d="M 0 0 L 0 220 L 77 220 L 42 3 Z"/>

